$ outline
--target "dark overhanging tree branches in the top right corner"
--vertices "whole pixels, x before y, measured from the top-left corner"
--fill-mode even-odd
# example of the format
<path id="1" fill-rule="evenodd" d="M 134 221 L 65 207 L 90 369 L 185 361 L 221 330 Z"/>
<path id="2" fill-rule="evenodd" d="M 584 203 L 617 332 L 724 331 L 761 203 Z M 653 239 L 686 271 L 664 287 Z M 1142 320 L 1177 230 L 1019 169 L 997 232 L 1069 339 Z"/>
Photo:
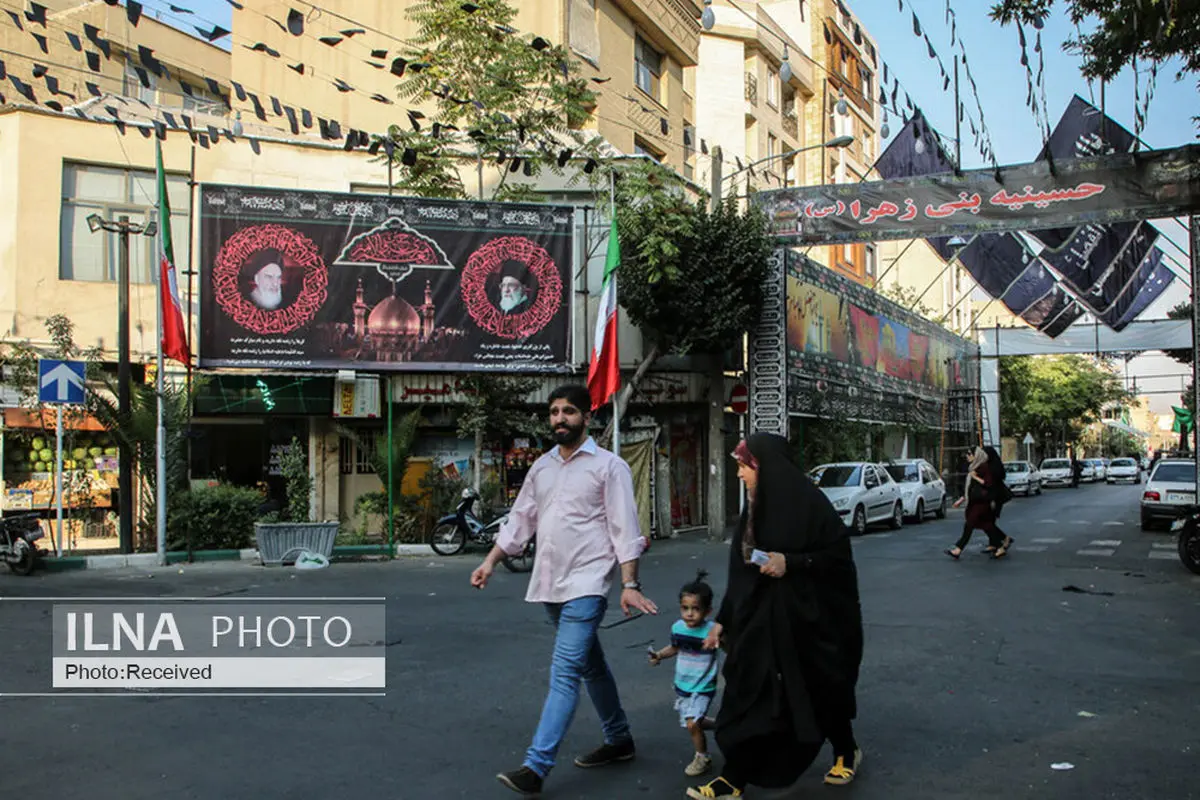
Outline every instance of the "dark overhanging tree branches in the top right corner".
<path id="1" fill-rule="evenodd" d="M 1200 72 L 1200 4 L 1195 0 L 1063 0 L 1076 26 L 1096 23 L 1090 34 L 1063 42 L 1082 58 L 1085 78 L 1111 80 L 1134 61 L 1181 59 L 1177 78 Z M 1002 25 L 1040 25 L 1055 0 L 1001 0 L 991 17 Z M 1200 124 L 1200 116 L 1193 118 Z"/>

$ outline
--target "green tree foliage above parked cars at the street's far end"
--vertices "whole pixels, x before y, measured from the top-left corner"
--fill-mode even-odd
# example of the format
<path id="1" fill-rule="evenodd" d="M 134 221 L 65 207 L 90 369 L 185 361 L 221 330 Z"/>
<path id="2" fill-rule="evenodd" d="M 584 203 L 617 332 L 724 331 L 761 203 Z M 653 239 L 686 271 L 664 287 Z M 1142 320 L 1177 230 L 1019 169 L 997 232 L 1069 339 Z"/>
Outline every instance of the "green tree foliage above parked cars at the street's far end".
<path id="1" fill-rule="evenodd" d="M 1120 377 L 1080 355 L 1000 360 L 1000 421 L 1012 434 L 1075 441 L 1112 404 L 1128 404 Z"/>

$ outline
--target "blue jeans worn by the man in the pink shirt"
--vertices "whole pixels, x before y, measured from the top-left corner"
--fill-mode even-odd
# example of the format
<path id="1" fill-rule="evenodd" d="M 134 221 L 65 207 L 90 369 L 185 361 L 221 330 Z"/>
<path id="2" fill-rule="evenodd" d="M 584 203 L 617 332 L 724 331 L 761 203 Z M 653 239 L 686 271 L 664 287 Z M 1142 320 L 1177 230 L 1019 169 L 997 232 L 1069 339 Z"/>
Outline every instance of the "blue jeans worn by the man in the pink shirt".
<path id="1" fill-rule="evenodd" d="M 550 619 L 558 630 L 554 656 L 550 663 L 550 693 L 541 709 L 541 721 L 526 752 L 524 765 L 542 777 L 554 766 L 554 756 L 563 744 L 580 702 L 580 681 L 588 687 L 606 744 L 628 741 L 629 722 L 617 696 L 613 680 L 600 649 L 600 621 L 608 600 L 600 596 L 576 597 L 565 603 L 546 603 Z"/>

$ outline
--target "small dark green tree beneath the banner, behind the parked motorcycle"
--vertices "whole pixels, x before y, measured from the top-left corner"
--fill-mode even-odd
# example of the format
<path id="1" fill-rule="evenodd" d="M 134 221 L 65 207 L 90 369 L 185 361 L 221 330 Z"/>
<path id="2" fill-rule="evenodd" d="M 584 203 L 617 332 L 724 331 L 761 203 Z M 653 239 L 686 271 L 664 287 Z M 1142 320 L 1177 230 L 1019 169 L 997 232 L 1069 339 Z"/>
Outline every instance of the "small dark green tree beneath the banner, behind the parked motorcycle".
<path id="1" fill-rule="evenodd" d="M 458 415 L 458 437 L 475 443 L 472 483 L 476 492 L 484 481 L 484 441 L 488 437 L 535 433 L 545 427 L 540 417 L 524 410 L 529 392 L 538 387 L 532 378 L 476 374 L 458 379 L 467 407 Z"/>

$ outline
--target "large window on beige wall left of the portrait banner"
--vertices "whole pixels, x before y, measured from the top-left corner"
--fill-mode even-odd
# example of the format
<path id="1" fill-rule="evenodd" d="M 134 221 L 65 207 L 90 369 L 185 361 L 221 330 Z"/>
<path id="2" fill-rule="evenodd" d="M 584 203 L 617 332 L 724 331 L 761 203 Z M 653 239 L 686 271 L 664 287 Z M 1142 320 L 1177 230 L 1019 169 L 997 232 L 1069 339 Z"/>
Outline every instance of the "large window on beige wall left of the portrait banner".
<path id="1" fill-rule="evenodd" d="M 145 224 L 157 219 L 158 188 L 151 169 L 121 169 L 90 164 L 62 166 L 62 218 L 60 222 L 59 277 L 64 281 L 115 281 L 119 236 L 88 228 L 88 217 L 106 219 L 125 215 Z M 191 191 L 187 178 L 167 175 L 170 201 L 170 235 L 176 267 L 190 263 L 192 247 L 187 212 Z M 156 236 L 130 236 L 130 282 L 155 283 Z"/>

